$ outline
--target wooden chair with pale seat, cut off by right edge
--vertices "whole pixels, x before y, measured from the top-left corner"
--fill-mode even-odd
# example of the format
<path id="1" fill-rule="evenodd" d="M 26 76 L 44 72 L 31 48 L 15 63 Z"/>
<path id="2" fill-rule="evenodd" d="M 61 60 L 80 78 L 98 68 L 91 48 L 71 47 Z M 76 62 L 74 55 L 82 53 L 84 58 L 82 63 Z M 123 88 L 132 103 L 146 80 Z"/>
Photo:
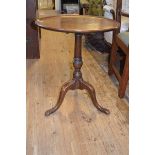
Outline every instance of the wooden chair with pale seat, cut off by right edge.
<path id="1" fill-rule="evenodd" d="M 122 0 L 117 0 L 117 8 L 116 8 L 116 20 L 121 23 L 121 16 L 129 17 L 128 13 L 122 12 Z M 118 58 L 118 49 L 121 49 L 121 52 L 124 53 L 123 60 L 123 72 L 120 71 L 116 67 L 116 62 Z M 115 74 L 116 78 L 119 81 L 119 90 L 118 96 L 120 98 L 124 97 L 125 90 L 129 80 L 129 32 L 114 32 L 113 43 L 112 43 L 112 51 L 110 55 L 109 62 L 109 75 Z"/>

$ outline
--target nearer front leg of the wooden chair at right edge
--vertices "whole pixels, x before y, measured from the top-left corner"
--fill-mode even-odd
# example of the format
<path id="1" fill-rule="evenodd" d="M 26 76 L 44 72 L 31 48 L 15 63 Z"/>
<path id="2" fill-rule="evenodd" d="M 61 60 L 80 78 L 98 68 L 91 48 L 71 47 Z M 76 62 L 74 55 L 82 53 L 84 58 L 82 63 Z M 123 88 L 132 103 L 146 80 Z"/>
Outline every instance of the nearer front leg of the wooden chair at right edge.
<path id="1" fill-rule="evenodd" d="M 119 84 L 118 96 L 120 98 L 124 97 L 125 95 L 125 90 L 128 84 L 128 80 L 129 80 L 129 55 L 126 56 L 123 74 Z"/>

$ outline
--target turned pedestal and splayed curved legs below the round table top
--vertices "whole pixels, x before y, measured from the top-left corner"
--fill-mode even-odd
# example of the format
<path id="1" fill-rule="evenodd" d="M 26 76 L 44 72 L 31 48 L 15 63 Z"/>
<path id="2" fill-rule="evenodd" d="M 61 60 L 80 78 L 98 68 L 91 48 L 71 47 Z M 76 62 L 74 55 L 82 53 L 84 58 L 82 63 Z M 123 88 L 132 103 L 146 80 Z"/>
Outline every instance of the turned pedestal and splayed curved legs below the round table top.
<path id="1" fill-rule="evenodd" d="M 56 105 L 45 112 L 45 116 L 49 116 L 50 114 L 54 113 L 59 107 L 61 106 L 63 99 L 68 90 L 75 90 L 75 89 L 86 89 L 91 97 L 91 100 L 94 106 L 105 114 L 110 114 L 110 111 L 106 108 L 101 107 L 96 99 L 96 93 L 93 86 L 82 78 L 81 67 L 82 67 L 82 55 L 81 55 L 81 46 L 82 46 L 82 34 L 75 34 L 75 49 L 74 49 L 74 73 L 73 79 L 69 82 L 66 82 L 60 90 L 59 98 Z"/>

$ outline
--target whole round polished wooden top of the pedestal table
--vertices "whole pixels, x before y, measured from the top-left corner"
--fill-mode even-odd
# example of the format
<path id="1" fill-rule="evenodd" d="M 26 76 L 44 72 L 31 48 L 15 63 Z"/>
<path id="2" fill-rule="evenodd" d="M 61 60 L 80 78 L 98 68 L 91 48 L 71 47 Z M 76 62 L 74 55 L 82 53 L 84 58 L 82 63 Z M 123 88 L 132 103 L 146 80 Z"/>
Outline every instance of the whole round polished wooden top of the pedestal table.
<path id="1" fill-rule="evenodd" d="M 68 33 L 107 32 L 120 27 L 114 20 L 84 15 L 57 15 L 37 19 L 35 23 L 44 29 Z"/>

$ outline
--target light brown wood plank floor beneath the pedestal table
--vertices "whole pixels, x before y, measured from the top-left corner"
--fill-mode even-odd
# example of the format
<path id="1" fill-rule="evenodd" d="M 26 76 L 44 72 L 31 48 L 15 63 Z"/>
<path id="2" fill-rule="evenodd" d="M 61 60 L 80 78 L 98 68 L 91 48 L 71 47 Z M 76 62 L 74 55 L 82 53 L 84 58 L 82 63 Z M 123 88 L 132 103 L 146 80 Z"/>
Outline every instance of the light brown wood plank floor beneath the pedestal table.
<path id="1" fill-rule="evenodd" d="M 128 102 L 118 98 L 116 86 L 84 47 L 83 78 L 111 114 L 97 111 L 87 92 L 76 90 L 57 112 L 44 116 L 72 77 L 73 49 L 72 34 L 42 30 L 41 58 L 27 60 L 27 155 L 128 155 Z"/>

